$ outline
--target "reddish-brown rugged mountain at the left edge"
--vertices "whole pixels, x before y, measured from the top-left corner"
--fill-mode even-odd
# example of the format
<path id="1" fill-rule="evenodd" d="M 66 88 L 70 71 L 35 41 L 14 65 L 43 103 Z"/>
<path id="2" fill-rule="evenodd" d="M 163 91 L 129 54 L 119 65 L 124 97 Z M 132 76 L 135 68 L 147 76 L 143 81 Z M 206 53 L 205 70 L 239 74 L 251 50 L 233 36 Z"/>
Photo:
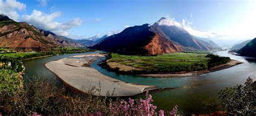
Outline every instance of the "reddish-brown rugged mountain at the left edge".
<path id="1" fill-rule="evenodd" d="M 0 15 L 0 46 L 18 51 L 50 51 L 59 46 L 80 46 L 73 41 L 59 37 L 54 33 L 42 31 L 27 23 L 18 23 L 7 16 Z"/>

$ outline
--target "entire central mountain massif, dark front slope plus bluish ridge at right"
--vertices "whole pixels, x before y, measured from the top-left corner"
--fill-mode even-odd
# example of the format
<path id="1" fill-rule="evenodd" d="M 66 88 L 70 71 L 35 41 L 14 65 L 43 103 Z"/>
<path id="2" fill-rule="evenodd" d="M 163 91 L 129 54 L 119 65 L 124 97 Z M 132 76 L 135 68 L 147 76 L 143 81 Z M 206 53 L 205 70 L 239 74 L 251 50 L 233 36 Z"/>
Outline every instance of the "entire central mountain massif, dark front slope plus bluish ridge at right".
<path id="1" fill-rule="evenodd" d="M 217 48 L 208 40 L 197 39 L 184 28 L 174 25 L 162 25 L 161 18 L 149 25 L 128 27 L 124 31 L 100 41 L 93 49 L 131 55 L 159 55 L 182 50 L 206 50 Z"/>

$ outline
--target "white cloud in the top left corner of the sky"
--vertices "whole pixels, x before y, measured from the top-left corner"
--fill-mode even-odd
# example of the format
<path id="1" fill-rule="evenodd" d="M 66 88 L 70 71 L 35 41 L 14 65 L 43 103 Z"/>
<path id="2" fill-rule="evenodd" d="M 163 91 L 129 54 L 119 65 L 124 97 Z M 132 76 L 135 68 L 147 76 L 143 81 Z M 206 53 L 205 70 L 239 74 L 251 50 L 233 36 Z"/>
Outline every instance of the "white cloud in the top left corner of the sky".
<path id="1" fill-rule="evenodd" d="M 5 14 L 11 19 L 17 20 L 19 14 L 17 10 L 22 11 L 26 9 L 26 4 L 17 2 L 16 0 L 0 0 L 0 14 Z"/>

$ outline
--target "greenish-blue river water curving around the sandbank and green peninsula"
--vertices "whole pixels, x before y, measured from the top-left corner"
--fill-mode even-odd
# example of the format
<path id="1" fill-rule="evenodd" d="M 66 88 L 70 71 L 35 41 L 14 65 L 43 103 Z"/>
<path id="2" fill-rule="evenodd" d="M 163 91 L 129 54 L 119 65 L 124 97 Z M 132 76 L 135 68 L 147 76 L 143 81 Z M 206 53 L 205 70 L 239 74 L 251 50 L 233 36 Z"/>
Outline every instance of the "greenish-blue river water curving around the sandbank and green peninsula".
<path id="1" fill-rule="evenodd" d="M 91 52 L 90 52 L 91 53 Z M 33 76 L 54 79 L 56 76 L 45 68 L 44 64 L 50 61 L 62 59 L 73 55 L 81 55 L 89 53 L 65 54 L 51 57 L 44 57 L 41 59 L 34 59 L 25 61 L 25 74 L 28 78 Z M 246 60 L 246 57 L 228 54 L 228 51 L 220 51 L 215 54 L 220 56 L 228 56 L 231 59 L 244 62 L 237 66 L 215 71 L 212 73 L 193 76 L 193 77 L 173 77 L 173 78 L 155 78 L 155 77 L 140 77 L 131 75 L 120 75 L 102 69 L 97 65 L 97 62 L 91 64 L 91 67 L 97 69 L 100 73 L 120 79 L 124 82 L 138 83 L 145 85 L 156 85 L 159 88 L 172 88 L 152 91 L 153 104 L 157 105 L 159 109 L 171 110 L 177 104 L 179 110 L 184 112 L 202 113 L 204 111 L 212 110 L 215 106 L 207 105 L 214 103 L 214 99 L 218 98 L 218 92 L 227 86 L 234 86 L 242 84 L 246 79 L 256 79 L 256 63 L 255 60 Z M 86 75 L 86 74 L 85 74 Z M 58 79 L 57 79 L 58 81 Z M 61 84 L 58 82 L 57 84 Z M 143 97 L 144 95 L 137 95 L 132 98 Z"/>

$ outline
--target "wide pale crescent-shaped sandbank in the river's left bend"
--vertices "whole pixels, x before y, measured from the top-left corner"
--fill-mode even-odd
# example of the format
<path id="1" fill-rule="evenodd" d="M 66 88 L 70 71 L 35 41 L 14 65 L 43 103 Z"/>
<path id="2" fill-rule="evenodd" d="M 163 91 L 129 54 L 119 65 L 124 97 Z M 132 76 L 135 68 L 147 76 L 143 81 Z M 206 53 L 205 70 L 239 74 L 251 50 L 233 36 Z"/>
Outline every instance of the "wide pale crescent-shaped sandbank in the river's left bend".
<path id="1" fill-rule="evenodd" d="M 126 83 L 105 76 L 89 67 L 92 61 L 103 57 L 103 54 L 87 54 L 83 59 L 60 59 L 48 62 L 45 67 L 57 75 L 66 85 L 90 93 L 95 96 L 134 96 L 147 90 L 157 89 L 156 86 Z M 108 95 L 109 94 L 109 95 Z"/>

